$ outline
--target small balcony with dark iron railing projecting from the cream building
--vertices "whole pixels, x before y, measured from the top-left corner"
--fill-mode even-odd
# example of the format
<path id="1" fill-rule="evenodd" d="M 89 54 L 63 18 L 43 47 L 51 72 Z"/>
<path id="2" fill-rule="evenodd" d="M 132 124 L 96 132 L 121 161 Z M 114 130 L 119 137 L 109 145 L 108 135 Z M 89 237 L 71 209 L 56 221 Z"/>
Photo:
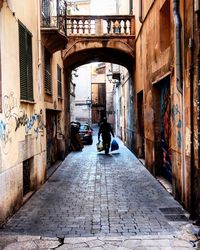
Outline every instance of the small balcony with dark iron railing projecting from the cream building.
<path id="1" fill-rule="evenodd" d="M 64 0 L 42 0 L 41 34 L 42 42 L 49 52 L 65 49 L 67 36 Z"/>

